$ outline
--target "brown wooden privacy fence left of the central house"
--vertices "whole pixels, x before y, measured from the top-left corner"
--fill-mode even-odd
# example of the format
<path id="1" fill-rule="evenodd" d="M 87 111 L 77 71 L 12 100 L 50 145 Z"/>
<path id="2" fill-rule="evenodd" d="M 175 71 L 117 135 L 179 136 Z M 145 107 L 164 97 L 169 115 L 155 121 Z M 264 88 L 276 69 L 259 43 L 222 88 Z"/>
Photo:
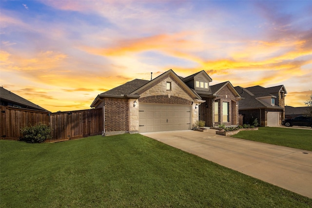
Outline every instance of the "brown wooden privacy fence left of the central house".
<path id="1" fill-rule="evenodd" d="M 1 106 L 1 139 L 18 140 L 20 128 L 39 122 L 52 128 L 52 139 L 47 142 L 65 141 L 102 133 L 102 109 L 48 113 Z"/>

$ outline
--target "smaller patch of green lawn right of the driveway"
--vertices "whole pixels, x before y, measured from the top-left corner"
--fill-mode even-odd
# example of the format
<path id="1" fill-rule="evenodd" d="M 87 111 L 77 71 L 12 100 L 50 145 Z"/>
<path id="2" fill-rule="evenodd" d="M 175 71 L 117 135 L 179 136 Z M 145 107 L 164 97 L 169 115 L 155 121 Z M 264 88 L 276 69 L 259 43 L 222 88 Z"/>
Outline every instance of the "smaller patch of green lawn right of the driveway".
<path id="1" fill-rule="evenodd" d="M 312 151 L 312 130 L 308 129 L 259 127 L 258 131 L 242 131 L 232 137 Z"/>

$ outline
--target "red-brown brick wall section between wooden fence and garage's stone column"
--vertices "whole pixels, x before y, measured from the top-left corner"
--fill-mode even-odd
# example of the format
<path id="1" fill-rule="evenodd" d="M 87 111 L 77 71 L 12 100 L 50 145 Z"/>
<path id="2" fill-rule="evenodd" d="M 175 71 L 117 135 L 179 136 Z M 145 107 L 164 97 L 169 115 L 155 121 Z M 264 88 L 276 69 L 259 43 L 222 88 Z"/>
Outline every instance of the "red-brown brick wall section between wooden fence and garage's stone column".
<path id="1" fill-rule="evenodd" d="M 129 131 L 128 99 L 105 98 L 105 132 Z"/>

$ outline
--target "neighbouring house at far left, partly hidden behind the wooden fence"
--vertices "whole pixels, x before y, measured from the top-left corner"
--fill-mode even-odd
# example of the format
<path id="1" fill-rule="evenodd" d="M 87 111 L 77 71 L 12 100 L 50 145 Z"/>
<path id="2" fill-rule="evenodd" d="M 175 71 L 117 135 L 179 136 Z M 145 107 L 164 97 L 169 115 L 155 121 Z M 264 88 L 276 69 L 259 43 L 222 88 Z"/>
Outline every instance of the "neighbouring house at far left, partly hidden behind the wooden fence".
<path id="1" fill-rule="evenodd" d="M 46 109 L 41 108 L 39 105 L 36 105 L 3 87 L 0 87 L 0 105 L 49 112 Z"/>

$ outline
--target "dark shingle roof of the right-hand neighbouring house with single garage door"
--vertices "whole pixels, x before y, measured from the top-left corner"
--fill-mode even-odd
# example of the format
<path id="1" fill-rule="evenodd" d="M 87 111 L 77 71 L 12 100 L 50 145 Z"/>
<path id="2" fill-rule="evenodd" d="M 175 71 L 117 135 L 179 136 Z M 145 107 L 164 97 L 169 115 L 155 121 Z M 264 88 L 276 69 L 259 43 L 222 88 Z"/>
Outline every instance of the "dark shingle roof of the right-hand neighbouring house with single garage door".
<path id="1" fill-rule="evenodd" d="M 254 86 L 249 88 L 242 88 L 240 86 L 234 87 L 234 89 L 240 94 L 241 97 L 245 98 L 239 101 L 239 110 L 248 110 L 248 109 L 259 109 L 259 108 L 271 108 L 271 109 L 280 109 L 283 108 L 277 105 L 272 106 L 269 103 L 263 102 L 260 100 L 260 97 L 276 97 L 267 92 L 266 88 L 261 86 Z M 280 89 L 280 88 L 279 88 Z M 277 91 L 278 92 L 278 91 Z"/>

